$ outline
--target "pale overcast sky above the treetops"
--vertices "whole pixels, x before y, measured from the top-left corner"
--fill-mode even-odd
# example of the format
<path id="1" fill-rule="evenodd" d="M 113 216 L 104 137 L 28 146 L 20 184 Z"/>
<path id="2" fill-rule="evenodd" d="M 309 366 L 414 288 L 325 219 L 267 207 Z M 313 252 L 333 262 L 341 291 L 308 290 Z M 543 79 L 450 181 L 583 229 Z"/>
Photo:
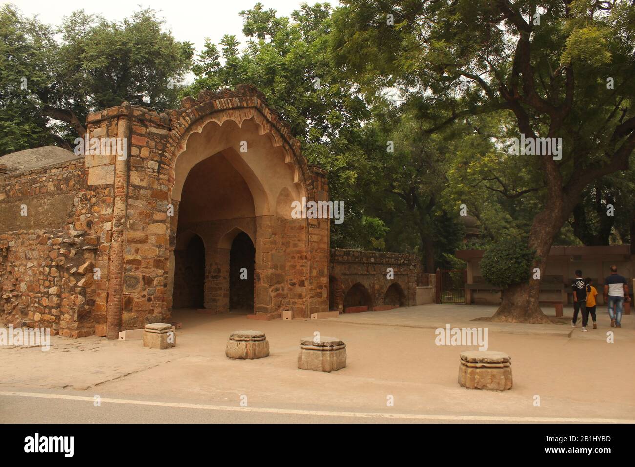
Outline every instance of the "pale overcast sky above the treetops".
<path id="1" fill-rule="evenodd" d="M 224 34 L 235 34 L 244 44 L 242 34 L 243 18 L 241 10 L 252 8 L 258 0 L 108 0 L 108 1 L 69 1 L 69 0 L 12 0 L 27 16 L 38 15 L 46 24 L 59 25 L 63 17 L 81 8 L 86 13 L 99 13 L 109 20 L 121 20 L 133 11 L 151 6 L 159 11 L 166 20 L 166 28 L 172 31 L 178 41 L 190 41 L 196 51 L 203 49 L 205 37 L 218 44 Z M 300 4 L 317 3 L 315 0 L 260 0 L 265 8 L 274 8 L 279 15 L 288 16 L 291 11 L 300 8 Z M 329 2 L 337 6 L 337 1 Z"/>

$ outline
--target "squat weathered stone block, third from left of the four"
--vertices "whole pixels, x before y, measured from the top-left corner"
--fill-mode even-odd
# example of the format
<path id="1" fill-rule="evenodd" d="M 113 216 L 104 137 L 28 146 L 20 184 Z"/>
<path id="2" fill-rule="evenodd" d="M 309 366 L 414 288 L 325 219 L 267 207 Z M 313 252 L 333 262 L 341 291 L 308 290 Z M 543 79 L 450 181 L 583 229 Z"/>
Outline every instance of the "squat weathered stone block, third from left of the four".
<path id="1" fill-rule="evenodd" d="M 337 337 L 321 336 L 300 339 L 298 369 L 331 372 L 346 367 L 346 344 Z"/>

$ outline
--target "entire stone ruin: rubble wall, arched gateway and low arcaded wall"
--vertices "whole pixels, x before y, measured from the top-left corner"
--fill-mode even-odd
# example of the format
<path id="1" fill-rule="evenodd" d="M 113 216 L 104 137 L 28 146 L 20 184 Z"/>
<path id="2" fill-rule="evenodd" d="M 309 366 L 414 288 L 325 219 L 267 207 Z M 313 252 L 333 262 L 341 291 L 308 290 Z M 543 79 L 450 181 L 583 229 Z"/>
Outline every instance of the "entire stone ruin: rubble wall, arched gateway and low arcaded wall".
<path id="1" fill-rule="evenodd" d="M 173 308 L 309 318 L 329 310 L 330 279 L 339 311 L 343 286 L 368 309 L 415 304 L 414 257 L 374 253 L 370 267 L 362 255 L 348 274 L 352 254 L 330 259 L 330 219 L 294 218 L 294 201 L 328 201 L 326 173 L 253 86 L 164 113 L 124 102 L 87 130 L 75 152 L 0 158 L 6 323 L 116 339 Z"/>

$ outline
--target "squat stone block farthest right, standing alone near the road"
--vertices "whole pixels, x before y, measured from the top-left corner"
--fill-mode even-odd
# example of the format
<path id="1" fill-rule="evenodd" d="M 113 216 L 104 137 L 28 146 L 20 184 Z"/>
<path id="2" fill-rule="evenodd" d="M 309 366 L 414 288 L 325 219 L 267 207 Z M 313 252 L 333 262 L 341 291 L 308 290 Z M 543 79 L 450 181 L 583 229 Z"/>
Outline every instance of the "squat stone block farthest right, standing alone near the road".
<path id="1" fill-rule="evenodd" d="M 468 389 L 511 389 L 511 357 L 506 353 L 491 350 L 461 352 L 458 384 Z"/>

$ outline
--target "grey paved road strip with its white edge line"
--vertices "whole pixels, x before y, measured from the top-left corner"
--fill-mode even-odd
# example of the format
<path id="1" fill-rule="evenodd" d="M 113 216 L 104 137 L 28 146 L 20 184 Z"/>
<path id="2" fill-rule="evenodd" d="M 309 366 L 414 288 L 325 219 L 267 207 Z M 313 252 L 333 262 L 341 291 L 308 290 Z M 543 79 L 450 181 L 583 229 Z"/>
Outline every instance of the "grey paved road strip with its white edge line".
<path id="1" fill-rule="evenodd" d="M 344 412 L 306 405 L 229 407 L 201 401 L 166 401 L 74 391 L 0 390 L 0 423 L 567 423 L 612 422 L 611 419 L 500 417 L 457 414 Z M 630 421 L 633 423 L 634 421 Z"/>

